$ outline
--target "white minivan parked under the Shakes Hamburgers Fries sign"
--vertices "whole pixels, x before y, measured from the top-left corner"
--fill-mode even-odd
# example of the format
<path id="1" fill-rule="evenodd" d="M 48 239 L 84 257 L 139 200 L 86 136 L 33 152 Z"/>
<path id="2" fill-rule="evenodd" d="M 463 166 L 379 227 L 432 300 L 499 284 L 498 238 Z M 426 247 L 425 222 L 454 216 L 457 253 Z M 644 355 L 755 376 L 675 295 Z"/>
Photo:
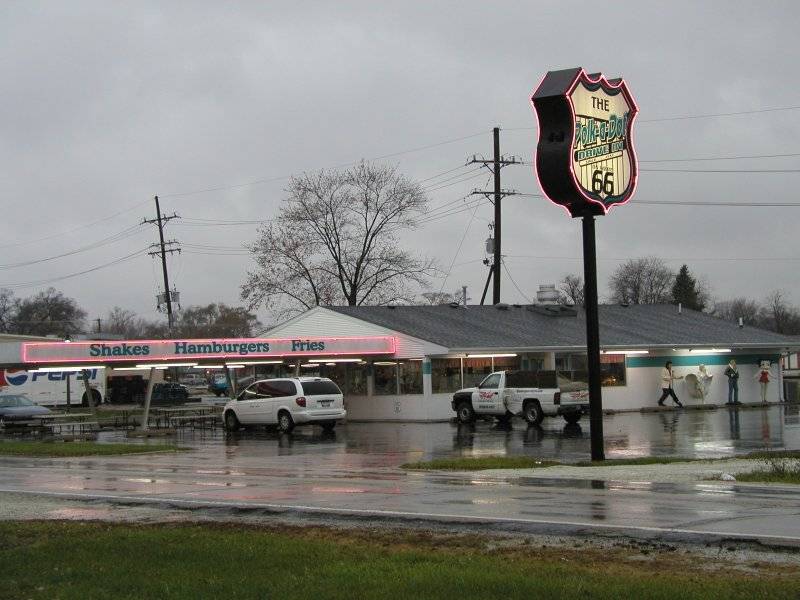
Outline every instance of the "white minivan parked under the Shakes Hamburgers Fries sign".
<path id="1" fill-rule="evenodd" d="M 305 423 L 331 431 L 346 416 L 342 390 L 321 377 L 255 381 L 225 404 L 222 412 L 228 431 L 242 425 L 277 425 L 286 433 Z"/>

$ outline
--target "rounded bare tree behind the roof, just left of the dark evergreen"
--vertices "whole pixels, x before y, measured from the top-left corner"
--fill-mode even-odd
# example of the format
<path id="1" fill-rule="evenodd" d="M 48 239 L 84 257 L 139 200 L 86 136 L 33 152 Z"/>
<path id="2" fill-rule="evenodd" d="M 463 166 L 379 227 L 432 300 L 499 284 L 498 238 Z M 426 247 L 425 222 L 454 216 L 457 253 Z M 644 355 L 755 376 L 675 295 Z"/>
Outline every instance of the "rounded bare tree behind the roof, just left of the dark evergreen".
<path id="1" fill-rule="evenodd" d="M 611 299 L 623 304 L 668 304 L 675 273 L 660 258 L 631 259 L 611 275 Z"/>

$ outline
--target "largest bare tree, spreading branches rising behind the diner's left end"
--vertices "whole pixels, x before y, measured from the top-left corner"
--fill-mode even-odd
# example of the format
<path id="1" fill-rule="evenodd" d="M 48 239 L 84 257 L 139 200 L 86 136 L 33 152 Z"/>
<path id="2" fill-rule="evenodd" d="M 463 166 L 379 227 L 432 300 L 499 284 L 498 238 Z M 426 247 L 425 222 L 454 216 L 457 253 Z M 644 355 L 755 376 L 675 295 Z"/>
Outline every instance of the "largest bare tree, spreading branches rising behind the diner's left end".
<path id="1" fill-rule="evenodd" d="M 242 298 L 287 316 L 318 305 L 410 300 L 433 261 L 399 245 L 417 226 L 427 199 L 419 184 L 393 167 L 370 163 L 343 172 L 293 178 L 277 218 L 250 246 L 257 269 Z"/>

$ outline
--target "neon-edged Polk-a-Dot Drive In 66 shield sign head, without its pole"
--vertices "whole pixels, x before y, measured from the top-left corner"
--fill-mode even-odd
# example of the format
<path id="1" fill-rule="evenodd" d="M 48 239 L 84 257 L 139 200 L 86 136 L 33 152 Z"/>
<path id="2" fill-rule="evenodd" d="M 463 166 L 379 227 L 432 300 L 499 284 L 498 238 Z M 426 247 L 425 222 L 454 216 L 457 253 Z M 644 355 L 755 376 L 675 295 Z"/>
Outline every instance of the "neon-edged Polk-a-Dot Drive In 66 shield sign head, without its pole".
<path id="1" fill-rule="evenodd" d="M 539 121 L 536 175 L 550 201 L 582 217 L 630 200 L 638 108 L 625 81 L 581 68 L 550 71 L 531 102 Z"/>

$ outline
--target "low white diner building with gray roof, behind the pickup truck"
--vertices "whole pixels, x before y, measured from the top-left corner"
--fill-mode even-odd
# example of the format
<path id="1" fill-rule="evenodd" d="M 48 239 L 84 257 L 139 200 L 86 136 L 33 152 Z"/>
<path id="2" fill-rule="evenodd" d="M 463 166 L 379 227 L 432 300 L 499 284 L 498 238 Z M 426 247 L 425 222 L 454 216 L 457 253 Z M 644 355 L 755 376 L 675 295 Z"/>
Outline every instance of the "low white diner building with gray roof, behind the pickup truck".
<path id="1" fill-rule="evenodd" d="M 543 385 L 585 393 L 586 320 L 583 311 L 557 304 L 316 307 L 283 323 L 274 337 L 389 336 L 394 352 L 331 357 L 275 365 L 334 379 L 344 390 L 349 420 L 436 421 L 453 416 L 453 392 L 503 369 L 539 371 Z M 768 401 L 783 401 L 782 356 L 800 339 L 724 321 L 675 305 L 601 305 L 603 406 L 655 406 L 667 360 L 684 404 L 727 400 L 724 370 L 736 360 L 743 402 L 760 400 L 758 371 L 769 361 Z M 700 365 L 711 379 L 697 386 Z M 686 377 L 690 375 L 690 377 Z M 694 376 L 694 377 L 692 377 Z"/>

